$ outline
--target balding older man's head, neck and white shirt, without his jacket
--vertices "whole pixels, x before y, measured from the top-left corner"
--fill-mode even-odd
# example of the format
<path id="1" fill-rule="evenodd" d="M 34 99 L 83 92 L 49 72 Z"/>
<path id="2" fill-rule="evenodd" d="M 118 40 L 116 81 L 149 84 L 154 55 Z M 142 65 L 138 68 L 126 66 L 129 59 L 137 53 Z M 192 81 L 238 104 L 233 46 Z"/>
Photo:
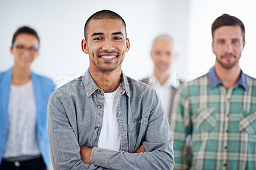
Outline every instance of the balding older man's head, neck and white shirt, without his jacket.
<path id="1" fill-rule="evenodd" d="M 177 58 L 173 39 L 168 35 L 157 36 L 154 39 L 150 55 L 154 62 L 154 74 L 141 80 L 141 82 L 145 82 L 156 89 L 170 123 L 172 100 L 180 85 L 180 81 L 171 73 L 171 66 Z"/>

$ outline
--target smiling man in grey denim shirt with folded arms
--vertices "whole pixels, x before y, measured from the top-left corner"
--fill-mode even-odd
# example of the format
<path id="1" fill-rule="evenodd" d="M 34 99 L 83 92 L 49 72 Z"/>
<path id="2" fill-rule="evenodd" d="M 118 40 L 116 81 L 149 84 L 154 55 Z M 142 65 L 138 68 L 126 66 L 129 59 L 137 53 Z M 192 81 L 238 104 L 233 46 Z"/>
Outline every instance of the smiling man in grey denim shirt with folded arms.
<path id="1" fill-rule="evenodd" d="M 173 139 L 156 91 L 122 72 L 130 47 L 122 17 L 94 13 L 84 36 L 90 67 L 49 100 L 54 169 L 173 169 Z"/>

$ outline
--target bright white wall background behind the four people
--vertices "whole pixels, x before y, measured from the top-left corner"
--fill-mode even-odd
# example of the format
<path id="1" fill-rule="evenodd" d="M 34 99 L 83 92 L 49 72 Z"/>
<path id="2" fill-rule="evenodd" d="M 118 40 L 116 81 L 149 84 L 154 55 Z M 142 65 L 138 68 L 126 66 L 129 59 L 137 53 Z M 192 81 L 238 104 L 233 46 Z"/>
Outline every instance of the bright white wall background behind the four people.
<path id="1" fill-rule="evenodd" d="M 152 40 L 159 34 L 173 36 L 179 60 L 173 72 L 193 79 L 214 65 L 211 24 L 223 13 L 235 15 L 246 27 L 246 46 L 241 68 L 256 77 L 253 69 L 256 42 L 254 1 L 244 0 L 98 0 L 98 1 L 0 1 L 0 72 L 13 65 L 10 46 L 20 26 L 31 26 L 40 36 L 40 55 L 32 70 L 51 77 L 57 86 L 83 75 L 89 66 L 81 50 L 84 22 L 99 10 L 113 10 L 127 24 L 131 49 L 122 68 L 126 75 L 141 79 L 152 73 Z"/>

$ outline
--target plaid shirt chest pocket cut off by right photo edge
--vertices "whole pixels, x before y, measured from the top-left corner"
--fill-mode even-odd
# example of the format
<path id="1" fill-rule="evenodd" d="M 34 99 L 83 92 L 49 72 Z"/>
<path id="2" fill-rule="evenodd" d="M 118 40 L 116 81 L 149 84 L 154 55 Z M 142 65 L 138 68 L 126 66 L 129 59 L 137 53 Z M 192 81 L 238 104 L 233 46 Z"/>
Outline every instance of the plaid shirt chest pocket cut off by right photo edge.
<path id="1" fill-rule="evenodd" d="M 239 130 L 240 132 L 256 135 L 256 112 L 246 115 L 241 114 Z"/>

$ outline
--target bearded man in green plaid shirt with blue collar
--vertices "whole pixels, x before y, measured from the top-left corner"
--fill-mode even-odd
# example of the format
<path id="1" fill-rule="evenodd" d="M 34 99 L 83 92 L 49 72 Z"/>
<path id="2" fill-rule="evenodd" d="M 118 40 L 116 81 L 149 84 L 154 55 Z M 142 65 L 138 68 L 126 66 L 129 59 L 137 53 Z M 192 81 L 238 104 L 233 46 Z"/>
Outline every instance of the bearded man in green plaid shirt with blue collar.
<path id="1" fill-rule="evenodd" d="M 239 67 L 244 35 L 236 17 L 214 20 L 215 65 L 177 91 L 170 123 L 175 169 L 256 169 L 256 80 Z"/>

